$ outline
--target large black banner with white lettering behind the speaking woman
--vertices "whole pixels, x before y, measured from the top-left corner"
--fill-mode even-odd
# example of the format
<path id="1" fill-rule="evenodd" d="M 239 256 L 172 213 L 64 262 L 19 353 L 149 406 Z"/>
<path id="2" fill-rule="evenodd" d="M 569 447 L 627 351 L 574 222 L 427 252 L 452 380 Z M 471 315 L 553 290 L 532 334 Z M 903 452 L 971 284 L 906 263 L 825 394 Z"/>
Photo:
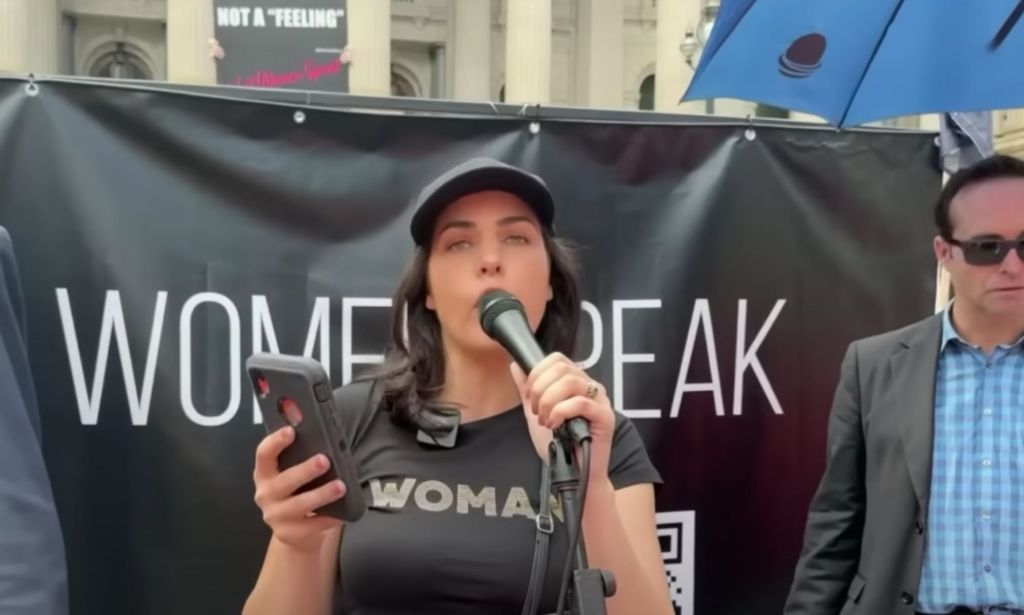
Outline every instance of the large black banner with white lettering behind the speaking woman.
<path id="1" fill-rule="evenodd" d="M 847 344 L 932 310 L 933 136 L 296 111 L 0 81 L 74 612 L 239 612 L 268 538 L 245 357 L 377 360 L 411 196 L 483 155 L 585 248 L 577 358 L 666 479 L 679 612 L 778 613 Z"/>

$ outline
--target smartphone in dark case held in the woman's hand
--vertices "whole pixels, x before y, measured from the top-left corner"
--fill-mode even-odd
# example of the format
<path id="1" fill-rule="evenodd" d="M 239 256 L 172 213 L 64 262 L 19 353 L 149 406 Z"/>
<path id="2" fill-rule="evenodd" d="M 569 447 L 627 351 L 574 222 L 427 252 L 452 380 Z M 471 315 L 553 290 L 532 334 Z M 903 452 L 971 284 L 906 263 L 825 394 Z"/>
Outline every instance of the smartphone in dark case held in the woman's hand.
<path id="1" fill-rule="evenodd" d="M 324 366 L 307 357 L 257 353 L 246 360 L 246 370 L 267 433 L 287 426 L 295 429 L 295 440 L 281 452 L 278 468 L 284 472 L 317 453 L 331 462 L 327 472 L 296 493 L 341 479 L 347 487 L 345 495 L 315 512 L 345 522 L 357 521 L 367 511 L 366 499 Z"/>

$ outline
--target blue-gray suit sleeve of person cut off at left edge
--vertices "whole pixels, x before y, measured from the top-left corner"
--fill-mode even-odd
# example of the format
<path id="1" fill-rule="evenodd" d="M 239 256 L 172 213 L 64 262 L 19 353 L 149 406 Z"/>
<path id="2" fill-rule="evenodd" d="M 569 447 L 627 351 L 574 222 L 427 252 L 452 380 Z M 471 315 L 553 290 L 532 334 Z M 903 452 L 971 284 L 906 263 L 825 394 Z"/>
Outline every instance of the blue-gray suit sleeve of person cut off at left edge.
<path id="1" fill-rule="evenodd" d="M 0 226 L 0 613 L 68 613 L 63 539 L 43 465 L 25 309 L 10 236 Z"/>

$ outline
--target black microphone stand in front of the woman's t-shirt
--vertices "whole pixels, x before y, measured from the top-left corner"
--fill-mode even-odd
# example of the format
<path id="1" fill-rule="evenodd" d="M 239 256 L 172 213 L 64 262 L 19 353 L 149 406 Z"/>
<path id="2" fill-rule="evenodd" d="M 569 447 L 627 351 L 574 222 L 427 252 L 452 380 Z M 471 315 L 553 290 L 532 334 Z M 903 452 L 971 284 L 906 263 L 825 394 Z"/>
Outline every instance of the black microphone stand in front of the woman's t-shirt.
<path id="1" fill-rule="evenodd" d="M 590 442 L 588 441 L 585 446 L 586 455 L 589 457 Z M 587 563 L 587 547 L 583 539 L 583 526 L 580 523 L 582 507 L 586 502 L 580 500 L 580 470 L 577 467 L 572 437 L 564 426 L 555 430 L 549 447 L 551 484 L 562 504 L 569 548 L 572 548 L 573 536 L 578 536 L 575 553 L 566 554 L 566 558 L 575 559 L 568 586 L 566 610 L 556 615 L 605 615 L 604 599 L 614 596 L 615 579 L 610 571 L 590 568 Z M 587 465 L 589 466 L 589 460 Z M 568 565 L 566 562 L 566 566 Z"/>

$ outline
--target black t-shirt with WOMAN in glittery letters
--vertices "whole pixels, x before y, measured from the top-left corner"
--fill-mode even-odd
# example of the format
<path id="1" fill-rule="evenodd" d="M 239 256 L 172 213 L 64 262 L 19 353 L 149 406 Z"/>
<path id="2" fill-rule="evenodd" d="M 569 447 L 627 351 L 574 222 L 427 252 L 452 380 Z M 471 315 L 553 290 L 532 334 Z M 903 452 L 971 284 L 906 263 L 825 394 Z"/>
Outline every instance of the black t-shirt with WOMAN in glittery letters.
<path id="1" fill-rule="evenodd" d="M 384 409 L 339 413 L 368 510 L 342 534 L 337 612 L 518 615 L 542 469 L 522 407 L 461 425 L 453 448 L 419 443 Z M 636 428 L 618 412 L 608 474 L 615 488 L 660 482 Z M 567 548 L 561 508 L 552 513 L 541 613 L 557 607 Z"/>

